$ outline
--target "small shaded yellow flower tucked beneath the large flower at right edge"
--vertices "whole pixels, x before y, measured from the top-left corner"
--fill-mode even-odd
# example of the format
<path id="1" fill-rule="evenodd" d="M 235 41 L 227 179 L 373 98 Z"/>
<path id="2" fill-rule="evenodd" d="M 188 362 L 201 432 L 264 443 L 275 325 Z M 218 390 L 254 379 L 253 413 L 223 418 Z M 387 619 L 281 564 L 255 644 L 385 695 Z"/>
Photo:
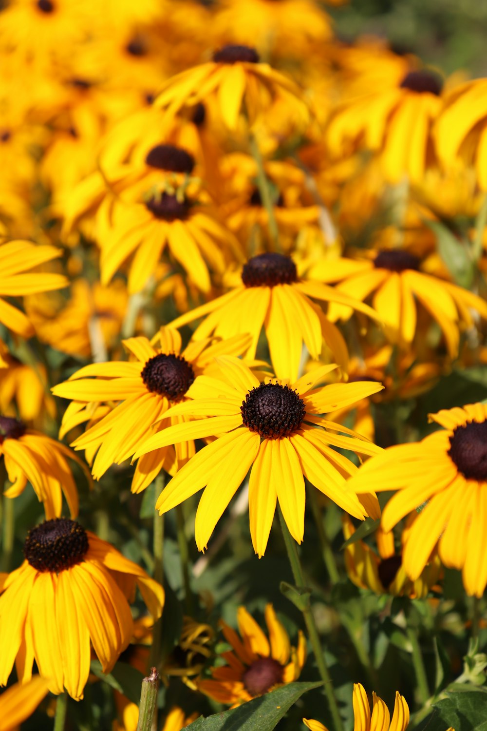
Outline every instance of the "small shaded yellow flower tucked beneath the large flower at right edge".
<path id="1" fill-rule="evenodd" d="M 417 512 L 411 513 L 407 520 L 407 527 L 402 533 L 402 542 L 407 538 Z M 343 536 L 348 540 L 355 533 L 350 516 L 342 518 Z M 402 566 L 401 552 L 396 553 L 394 535 L 378 528 L 375 533 L 377 553 L 366 542 L 358 540 L 345 548 L 345 567 L 350 581 L 363 589 L 375 591 L 375 594 L 391 594 L 392 596 L 409 596 L 411 599 L 427 596 L 437 584 L 442 567 L 436 552 L 423 569 L 417 580 L 408 579 Z"/>

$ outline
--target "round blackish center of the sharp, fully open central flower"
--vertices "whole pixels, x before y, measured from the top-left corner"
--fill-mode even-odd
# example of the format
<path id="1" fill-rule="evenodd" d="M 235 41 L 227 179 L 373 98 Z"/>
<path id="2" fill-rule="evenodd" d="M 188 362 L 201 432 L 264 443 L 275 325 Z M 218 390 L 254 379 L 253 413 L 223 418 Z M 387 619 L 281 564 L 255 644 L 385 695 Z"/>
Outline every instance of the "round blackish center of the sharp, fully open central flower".
<path id="1" fill-rule="evenodd" d="M 240 406 L 242 423 L 264 439 L 288 436 L 301 426 L 306 409 L 299 394 L 278 383 L 261 383 Z"/>

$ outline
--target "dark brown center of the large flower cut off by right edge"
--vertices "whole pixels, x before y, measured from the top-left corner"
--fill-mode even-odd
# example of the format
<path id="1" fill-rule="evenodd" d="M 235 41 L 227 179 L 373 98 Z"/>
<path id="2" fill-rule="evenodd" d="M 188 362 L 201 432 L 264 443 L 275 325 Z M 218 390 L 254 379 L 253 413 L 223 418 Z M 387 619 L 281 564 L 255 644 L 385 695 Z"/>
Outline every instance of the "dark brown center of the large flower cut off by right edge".
<path id="1" fill-rule="evenodd" d="M 467 480 L 487 480 L 487 421 L 457 426 L 448 454 Z"/>

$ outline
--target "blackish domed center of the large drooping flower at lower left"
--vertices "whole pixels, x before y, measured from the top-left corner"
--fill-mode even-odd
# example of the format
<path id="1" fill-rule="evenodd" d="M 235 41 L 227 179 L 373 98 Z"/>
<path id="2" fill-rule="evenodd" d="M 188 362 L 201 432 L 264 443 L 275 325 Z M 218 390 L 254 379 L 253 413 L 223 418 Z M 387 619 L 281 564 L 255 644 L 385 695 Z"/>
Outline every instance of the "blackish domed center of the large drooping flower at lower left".
<path id="1" fill-rule="evenodd" d="M 45 520 L 28 531 L 23 555 L 37 571 L 59 572 L 83 561 L 88 535 L 76 520 Z"/>

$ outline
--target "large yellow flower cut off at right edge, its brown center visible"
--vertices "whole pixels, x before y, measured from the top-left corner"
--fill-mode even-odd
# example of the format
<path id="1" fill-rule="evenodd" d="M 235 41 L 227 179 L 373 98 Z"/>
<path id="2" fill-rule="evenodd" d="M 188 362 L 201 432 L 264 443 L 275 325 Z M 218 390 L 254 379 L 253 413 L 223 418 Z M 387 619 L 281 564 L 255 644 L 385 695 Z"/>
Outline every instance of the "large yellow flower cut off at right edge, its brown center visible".
<path id="1" fill-rule="evenodd" d="M 402 553 L 411 580 L 420 577 L 437 546 L 445 566 L 462 570 L 467 594 L 482 596 L 487 585 L 487 406 L 445 409 L 431 419 L 443 428 L 421 442 L 388 447 L 348 485 L 359 491 L 372 485 L 375 491 L 397 491 L 383 510 L 384 531 L 424 506 Z"/>

